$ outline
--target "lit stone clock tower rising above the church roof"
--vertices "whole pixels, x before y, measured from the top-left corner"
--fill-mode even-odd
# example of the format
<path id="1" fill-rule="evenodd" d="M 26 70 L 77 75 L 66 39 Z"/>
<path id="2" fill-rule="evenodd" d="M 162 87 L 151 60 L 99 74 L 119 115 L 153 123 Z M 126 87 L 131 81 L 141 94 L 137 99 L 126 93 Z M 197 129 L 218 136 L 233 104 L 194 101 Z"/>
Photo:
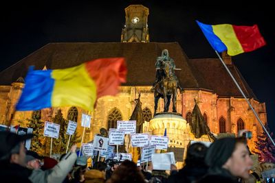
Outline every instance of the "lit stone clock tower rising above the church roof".
<path id="1" fill-rule="evenodd" d="M 148 8 L 143 5 L 129 5 L 125 8 L 121 42 L 149 42 L 148 14 Z"/>

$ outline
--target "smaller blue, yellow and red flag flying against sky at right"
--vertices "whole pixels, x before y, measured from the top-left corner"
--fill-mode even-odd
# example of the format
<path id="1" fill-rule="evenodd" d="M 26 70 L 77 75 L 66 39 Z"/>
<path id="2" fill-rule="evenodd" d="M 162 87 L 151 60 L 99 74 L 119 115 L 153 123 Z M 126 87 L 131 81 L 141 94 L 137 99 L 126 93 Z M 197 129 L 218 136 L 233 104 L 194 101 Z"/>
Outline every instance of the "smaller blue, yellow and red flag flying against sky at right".
<path id="1" fill-rule="evenodd" d="M 212 48 L 219 53 L 227 50 L 228 55 L 253 51 L 265 45 L 257 25 L 237 26 L 230 24 L 206 25 L 197 21 Z"/>

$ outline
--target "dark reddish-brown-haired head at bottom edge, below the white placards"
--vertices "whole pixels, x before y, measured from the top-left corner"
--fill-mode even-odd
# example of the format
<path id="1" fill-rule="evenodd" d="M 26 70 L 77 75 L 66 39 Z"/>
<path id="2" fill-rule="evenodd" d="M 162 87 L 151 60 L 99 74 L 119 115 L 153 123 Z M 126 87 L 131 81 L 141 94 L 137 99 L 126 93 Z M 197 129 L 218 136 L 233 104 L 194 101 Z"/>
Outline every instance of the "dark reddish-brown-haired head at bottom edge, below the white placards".
<path id="1" fill-rule="evenodd" d="M 124 160 L 115 171 L 113 171 L 113 174 L 111 175 L 111 178 L 108 180 L 108 182 L 111 183 L 140 183 L 145 182 L 144 175 L 142 175 L 142 172 L 137 169 L 137 165 L 135 162 L 132 162 L 130 160 Z"/>

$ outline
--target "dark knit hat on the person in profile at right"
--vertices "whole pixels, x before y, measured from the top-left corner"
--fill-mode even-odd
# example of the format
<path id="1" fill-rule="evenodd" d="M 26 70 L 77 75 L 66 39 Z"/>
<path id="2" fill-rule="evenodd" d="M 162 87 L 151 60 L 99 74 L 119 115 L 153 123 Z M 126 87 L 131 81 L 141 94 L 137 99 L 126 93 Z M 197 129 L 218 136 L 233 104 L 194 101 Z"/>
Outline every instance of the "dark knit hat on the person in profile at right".
<path id="1" fill-rule="evenodd" d="M 207 153 L 206 153 L 206 164 L 212 168 L 221 168 L 225 162 L 232 156 L 235 149 L 236 138 L 225 137 L 219 138 L 214 141 Z"/>

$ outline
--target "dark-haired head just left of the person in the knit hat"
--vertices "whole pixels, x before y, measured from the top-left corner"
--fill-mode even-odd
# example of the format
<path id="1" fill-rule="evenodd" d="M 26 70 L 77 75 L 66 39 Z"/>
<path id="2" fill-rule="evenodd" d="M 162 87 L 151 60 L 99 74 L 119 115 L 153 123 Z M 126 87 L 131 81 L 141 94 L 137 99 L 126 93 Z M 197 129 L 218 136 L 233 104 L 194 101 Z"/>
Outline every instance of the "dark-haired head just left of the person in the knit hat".
<path id="1" fill-rule="evenodd" d="M 187 149 L 185 163 L 190 167 L 204 167 L 206 166 L 204 158 L 206 156 L 208 147 L 203 143 L 193 143 Z"/>

